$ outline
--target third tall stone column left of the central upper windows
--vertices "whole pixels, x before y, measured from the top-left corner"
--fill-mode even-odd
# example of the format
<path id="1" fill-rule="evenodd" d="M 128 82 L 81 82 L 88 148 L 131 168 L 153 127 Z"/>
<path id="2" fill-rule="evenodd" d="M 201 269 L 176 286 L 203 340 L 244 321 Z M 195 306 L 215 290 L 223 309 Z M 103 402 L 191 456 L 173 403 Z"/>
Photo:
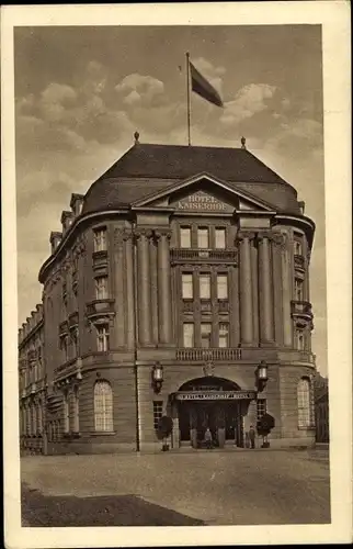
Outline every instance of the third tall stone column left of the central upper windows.
<path id="1" fill-rule="evenodd" d="M 135 346 L 135 284 L 134 284 L 134 242 L 133 233 L 124 234 L 125 245 L 125 288 L 126 288 L 126 332 L 127 347 Z"/>

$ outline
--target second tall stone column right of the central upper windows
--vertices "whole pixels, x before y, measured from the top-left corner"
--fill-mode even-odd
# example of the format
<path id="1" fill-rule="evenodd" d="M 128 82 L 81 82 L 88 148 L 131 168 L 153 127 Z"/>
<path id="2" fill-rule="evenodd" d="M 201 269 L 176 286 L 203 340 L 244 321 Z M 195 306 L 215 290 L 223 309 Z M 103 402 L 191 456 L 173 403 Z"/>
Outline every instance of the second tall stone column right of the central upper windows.
<path id="1" fill-rule="evenodd" d="M 259 304 L 260 304 L 260 343 L 273 344 L 273 291 L 271 276 L 270 238 L 272 234 L 262 232 L 259 242 Z"/>

